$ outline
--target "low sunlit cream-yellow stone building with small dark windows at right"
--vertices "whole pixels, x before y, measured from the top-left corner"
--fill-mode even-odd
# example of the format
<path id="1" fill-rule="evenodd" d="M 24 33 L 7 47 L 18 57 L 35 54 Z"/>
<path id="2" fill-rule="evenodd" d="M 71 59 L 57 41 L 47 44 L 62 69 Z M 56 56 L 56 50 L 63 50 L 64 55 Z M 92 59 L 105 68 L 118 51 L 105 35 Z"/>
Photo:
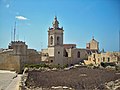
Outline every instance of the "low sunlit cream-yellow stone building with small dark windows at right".
<path id="1" fill-rule="evenodd" d="M 88 60 L 85 61 L 86 64 L 100 65 L 101 62 L 108 63 L 118 63 L 120 62 L 120 52 L 102 52 L 102 53 L 92 53 L 88 56 Z"/>

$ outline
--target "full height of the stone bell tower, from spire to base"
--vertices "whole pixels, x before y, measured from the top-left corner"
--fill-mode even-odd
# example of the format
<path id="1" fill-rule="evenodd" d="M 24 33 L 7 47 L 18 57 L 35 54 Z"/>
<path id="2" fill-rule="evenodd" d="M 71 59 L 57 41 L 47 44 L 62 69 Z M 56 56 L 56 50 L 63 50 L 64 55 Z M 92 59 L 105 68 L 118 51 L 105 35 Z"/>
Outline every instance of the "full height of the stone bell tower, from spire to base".
<path id="1" fill-rule="evenodd" d="M 48 30 L 48 54 L 50 62 L 62 64 L 63 57 L 63 27 L 59 28 L 59 22 L 55 16 L 53 27 Z"/>

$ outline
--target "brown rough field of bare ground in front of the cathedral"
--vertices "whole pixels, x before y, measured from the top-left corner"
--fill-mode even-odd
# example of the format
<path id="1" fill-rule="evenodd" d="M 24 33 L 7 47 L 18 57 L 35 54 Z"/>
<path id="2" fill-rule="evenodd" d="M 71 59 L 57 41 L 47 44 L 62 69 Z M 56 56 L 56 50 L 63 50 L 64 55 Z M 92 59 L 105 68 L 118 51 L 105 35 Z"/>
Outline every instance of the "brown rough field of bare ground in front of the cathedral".
<path id="1" fill-rule="evenodd" d="M 70 70 L 28 71 L 25 83 L 28 88 L 39 88 L 39 90 L 41 87 L 46 88 L 41 90 L 58 90 L 55 89 L 58 87 L 71 87 L 69 89 L 72 90 L 109 90 L 111 88 L 117 90 L 116 85 L 120 86 L 119 79 L 120 71 L 79 67 Z"/>

